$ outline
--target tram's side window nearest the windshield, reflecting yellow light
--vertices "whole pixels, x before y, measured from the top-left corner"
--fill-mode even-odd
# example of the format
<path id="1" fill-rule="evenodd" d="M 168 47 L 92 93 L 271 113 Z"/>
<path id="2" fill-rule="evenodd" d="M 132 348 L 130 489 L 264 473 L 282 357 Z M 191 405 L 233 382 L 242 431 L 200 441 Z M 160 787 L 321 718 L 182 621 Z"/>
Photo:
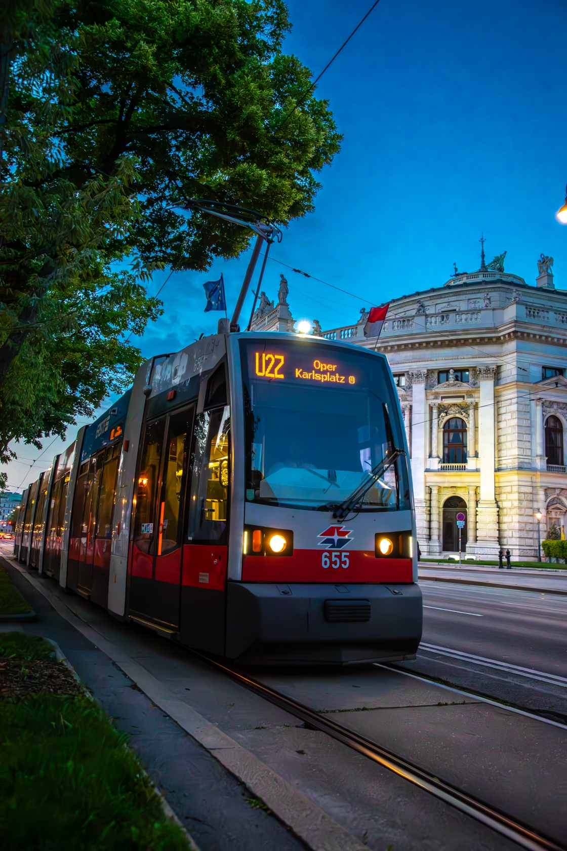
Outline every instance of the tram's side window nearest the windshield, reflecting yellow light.
<path id="1" fill-rule="evenodd" d="M 229 499 L 230 408 L 198 414 L 191 465 L 189 540 L 220 540 Z"/>

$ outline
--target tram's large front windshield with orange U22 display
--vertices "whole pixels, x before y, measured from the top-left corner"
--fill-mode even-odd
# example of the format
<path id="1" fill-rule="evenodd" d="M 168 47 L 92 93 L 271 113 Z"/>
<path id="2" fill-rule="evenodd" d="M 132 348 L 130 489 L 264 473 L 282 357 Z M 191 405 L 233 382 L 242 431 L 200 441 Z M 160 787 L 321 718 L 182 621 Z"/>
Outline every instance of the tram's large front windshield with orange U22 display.
<path id="1" fill-rule="evenodd" d="M 395 448 L 398 400 L 381 357 L 324 343 L 241 340 L 246 499 L 331 510 Z M 409 509 L 405 456 L 385 465 L 360 511 Z"/>

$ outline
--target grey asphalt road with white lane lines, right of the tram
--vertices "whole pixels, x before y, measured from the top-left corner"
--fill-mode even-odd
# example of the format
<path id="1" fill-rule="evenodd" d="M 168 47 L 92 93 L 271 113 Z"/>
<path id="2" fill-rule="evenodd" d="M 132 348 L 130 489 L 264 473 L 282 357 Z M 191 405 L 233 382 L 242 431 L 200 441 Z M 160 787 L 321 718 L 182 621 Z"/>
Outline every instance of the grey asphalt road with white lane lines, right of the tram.
<path id="1" fill-rule="evenodd" d="M 422 645 L 405 670 L 567 720 L 567 596 L 430 580 L 421 586 Z"/>

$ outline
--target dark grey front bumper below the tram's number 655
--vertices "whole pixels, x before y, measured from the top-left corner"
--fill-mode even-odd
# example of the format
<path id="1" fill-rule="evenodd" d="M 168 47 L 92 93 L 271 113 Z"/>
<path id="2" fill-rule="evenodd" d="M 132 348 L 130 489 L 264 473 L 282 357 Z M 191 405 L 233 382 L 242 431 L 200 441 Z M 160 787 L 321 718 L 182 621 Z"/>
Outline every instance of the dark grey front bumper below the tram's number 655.
<path id="1" fill-rule="evenodd" d="M 340 601 L 360 601 L 370 608 L 369 620 L 329 622 L 329 604 L 340 609 Z M 415 583 L 228 583 L 225 652 L 242 664 L 414 659 L 421 637 L 422 591 Z"/>

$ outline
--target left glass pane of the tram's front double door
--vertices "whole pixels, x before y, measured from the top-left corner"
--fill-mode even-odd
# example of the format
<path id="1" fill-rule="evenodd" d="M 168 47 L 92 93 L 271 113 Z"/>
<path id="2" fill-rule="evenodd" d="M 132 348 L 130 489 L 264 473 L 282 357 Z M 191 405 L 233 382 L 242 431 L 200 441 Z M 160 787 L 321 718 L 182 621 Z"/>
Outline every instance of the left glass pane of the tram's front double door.
<path id="1" fill-rule="evenodd" d="M 142 447 L 139 465 L 136 517 L 133 531 L 134 544 L 142 552 L 151 551 L 151 545 L 157 533 L 157 482 L 162 461 L 164 427 L 165 418 L 149 423 L 145 427 L 144 445 Z"/>

